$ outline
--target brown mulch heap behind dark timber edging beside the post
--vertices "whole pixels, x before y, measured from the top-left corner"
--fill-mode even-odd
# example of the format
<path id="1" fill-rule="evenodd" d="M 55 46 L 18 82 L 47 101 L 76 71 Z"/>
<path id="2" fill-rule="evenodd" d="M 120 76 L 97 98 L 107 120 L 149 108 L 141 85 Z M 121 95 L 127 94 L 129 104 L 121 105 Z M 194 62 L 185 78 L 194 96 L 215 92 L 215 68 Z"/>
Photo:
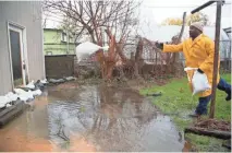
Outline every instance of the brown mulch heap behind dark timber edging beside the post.
<path id="1" fill-rule="evenodd" d="M 231 131 L 231 122 L 216 119 L 199 119 L 195 122 L 194 127 L 213 129 L 221 131 Z"/>

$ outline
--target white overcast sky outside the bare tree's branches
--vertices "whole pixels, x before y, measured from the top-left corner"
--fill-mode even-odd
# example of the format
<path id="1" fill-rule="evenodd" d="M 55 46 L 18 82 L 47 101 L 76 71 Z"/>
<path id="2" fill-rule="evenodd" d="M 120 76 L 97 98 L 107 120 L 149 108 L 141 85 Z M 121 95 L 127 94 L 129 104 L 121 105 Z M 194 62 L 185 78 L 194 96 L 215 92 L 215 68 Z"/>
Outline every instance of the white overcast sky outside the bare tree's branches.
<path id="1" fill-rule="evenodd" d="M 143 0 L 141 5 L 139 20 L 142 24 L 159 25 L 168 17 L 182 17 L 183 12 L 190 12 L 202 5 L 208 0 Z M 221 26 L 229 27 L 232 25 L 232 0 L 225 0 L 225 4 L 222 7 Z M 216 3 L 215 3 L 216 4 Z M 216 5 L 208 7 L 202 12 L 209 16 L 210 23 L 215 23 L 216 20 Z M 56 27 L 61 21 L 59 19 L 52 19 L 53 21 L 47 21 L 47 27 Z"/>

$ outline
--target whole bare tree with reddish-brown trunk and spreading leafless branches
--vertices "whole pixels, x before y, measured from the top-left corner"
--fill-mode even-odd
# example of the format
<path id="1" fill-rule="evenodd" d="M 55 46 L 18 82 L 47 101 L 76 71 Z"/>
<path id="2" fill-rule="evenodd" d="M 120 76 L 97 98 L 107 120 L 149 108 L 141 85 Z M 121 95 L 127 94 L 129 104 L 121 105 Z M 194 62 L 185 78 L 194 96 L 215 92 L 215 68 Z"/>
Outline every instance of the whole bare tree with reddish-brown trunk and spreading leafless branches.
<path id="1" fill-rule="evenodd" d="M 102 46 L 105 32 L 109 43 L 109 54 L 102 50 L 97 52 L 101 64 L 101 74 L 108 79 L 119 60 L 126 60 L 123 47 L 131 34 L 131 30 L 138 23 L 136 9 L 141 2 L 125 1 L 53 1 L 44 2 L 44 11 L 62 16 L 63 26 L 70 30 L 77 39 L 83 33 L 88 33 L 93 43 Z M 118 40 L 118 42 L 117 42 Z"/>

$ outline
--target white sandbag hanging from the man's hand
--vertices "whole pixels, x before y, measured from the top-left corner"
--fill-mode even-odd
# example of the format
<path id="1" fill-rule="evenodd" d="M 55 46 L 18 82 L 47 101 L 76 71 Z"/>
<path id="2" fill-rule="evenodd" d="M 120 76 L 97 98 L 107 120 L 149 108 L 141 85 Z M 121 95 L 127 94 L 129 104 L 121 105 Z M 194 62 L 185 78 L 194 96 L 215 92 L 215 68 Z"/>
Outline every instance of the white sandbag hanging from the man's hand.
<path id="1" fill-rule="evenodd" d="M 197 69 L 198 68 L 184 68 L 184 71 L 194 70 L 192 79 L 187 75 L 188 81 L 192 82 L 193 85 L 193 95 L 211 89 L 207 75 L 205 73 L 198 72 Z"/>

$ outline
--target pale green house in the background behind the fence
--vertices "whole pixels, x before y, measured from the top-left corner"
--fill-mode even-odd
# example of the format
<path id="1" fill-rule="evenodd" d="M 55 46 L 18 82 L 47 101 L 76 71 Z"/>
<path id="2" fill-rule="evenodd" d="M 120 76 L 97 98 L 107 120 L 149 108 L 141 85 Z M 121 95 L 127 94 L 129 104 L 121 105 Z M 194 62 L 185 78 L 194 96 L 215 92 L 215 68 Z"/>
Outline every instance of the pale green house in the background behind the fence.
<path id="1" fill-rule="evenodd" d="M 68 36 L 63 30 L 44 28 L 44 52 L 45 55 L 75 55 L 74 38 Z"/>

